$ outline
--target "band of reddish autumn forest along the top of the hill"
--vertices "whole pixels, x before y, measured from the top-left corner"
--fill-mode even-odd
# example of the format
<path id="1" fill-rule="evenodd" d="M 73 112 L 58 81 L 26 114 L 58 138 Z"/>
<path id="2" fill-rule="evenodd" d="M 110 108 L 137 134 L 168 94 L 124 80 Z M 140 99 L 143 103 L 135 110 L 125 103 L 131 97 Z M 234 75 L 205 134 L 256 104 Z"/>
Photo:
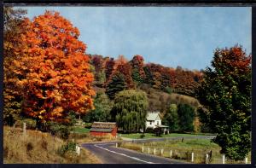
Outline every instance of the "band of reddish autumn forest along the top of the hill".
<path id="1" fill-rule="evenodd" d="M 203 76 L 203 72 L 197 70 L 144 63 L 142 55 L 134 55 L 131 61 L 126 61 L 123 55 L 117 59 L 102 55 L 90 55 L 90 58 L 95 67 L 96 85 L 107 88 L 111 99 L 120 90 L 134 89 L 140 84 L 149 84 L 149 87 L 167 93 L 194 96 Z"/>

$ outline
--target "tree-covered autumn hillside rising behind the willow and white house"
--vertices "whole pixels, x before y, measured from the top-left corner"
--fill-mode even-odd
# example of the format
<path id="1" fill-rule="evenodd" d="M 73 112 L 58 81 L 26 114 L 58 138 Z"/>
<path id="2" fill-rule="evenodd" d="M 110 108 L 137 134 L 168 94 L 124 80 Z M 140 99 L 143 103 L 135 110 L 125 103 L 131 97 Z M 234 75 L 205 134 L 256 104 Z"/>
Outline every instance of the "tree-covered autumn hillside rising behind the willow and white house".
<path id="1" fill-rule="evenodd" d="M 189 131 L 201 130 L 195 110 L 200 106 L 200 103 L 194 96 L 195 90 L 203 78 L 203 72 L 190 71 L 182 67 L 164 67 L 155 63 L 146 64 L 142 55 L 134 55 L 131 61 L 127 61 L 124 55 L 119 55 L 117 59 L 102 55 L 89 56 L 91 70 L 95 77 L 93 85 L 97 96 L 94 101 L 96 109 L 84 115 L 85 122 L 120 120 L 120 117 L 115 119 L 115 115 L 118 113 L 113 108 L 116 104 L 121 103 L 118 101 L 119 96 L 117 95 L 120 93 L 125 96 L 123 91 L 137 90 L 137 92 L 143 91 L 147 97 L 145 100 L 147 107 L 144 109 L 144 113 L 160 112 L 164 124 L 171 126 L 172 123 L 168 123 L 170 119 L 166 119 L 170 118 L 170 115 L 168 115 L 170 107 L 187 104 L 192 107 L 189 108 L 189 111 L 194 113 L 191 116 L 192 121 L 188 123 L 188 125 L 192 125 Z M 131 93 L 136 95 L 136 92 L 131 91 Z M 129 99 L 128 97 L 127 99 Z M 137 105 L 131 104 L 131 106 L 135 107 Z M 131 108 L 128 107 L 128 111 L 131 111 Z M 133 119 L 131 116 L 130 118 Z M 134 117 L 134 119 L 142 120 L 137 117 Z M 176 122 L 178 123 L 179 119 L 176 119 Z M 121 123 L 123 123 L 121 125 L 124 125 L 124 121 L 121 121 Z M 137 129 L 131 130 L 136 131 Z M 172 131 L 180 130 L 177 128 Z"/>

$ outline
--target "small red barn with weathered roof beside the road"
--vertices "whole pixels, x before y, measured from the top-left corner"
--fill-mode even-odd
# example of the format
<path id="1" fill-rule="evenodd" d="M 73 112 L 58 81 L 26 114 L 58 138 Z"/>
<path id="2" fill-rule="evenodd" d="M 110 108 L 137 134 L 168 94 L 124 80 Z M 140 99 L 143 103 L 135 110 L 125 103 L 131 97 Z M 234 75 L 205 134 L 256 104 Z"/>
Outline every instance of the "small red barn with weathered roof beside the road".
<path id="1" fill-rule="evenodd" d="M 116 136 L 117 125 L 116 123 L 107 123 L 107 122 L 94 122 L 90 128 L 91 136 L 107 136 L 111 134 Z"/>

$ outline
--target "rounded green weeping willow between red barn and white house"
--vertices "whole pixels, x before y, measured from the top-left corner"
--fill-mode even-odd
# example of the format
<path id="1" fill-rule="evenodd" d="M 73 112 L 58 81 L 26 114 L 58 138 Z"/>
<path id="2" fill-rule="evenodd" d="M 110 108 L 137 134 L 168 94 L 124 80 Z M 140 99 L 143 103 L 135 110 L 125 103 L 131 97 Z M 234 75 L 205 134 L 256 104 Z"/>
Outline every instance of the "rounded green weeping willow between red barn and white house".
<path id="1" fill-rule="evenodd" d="M 120 91 L 114 99 L 113 119 L 118 126 L 129 132 L 144 128 L 148 109 L 148 98 L 141 90 Z"/>

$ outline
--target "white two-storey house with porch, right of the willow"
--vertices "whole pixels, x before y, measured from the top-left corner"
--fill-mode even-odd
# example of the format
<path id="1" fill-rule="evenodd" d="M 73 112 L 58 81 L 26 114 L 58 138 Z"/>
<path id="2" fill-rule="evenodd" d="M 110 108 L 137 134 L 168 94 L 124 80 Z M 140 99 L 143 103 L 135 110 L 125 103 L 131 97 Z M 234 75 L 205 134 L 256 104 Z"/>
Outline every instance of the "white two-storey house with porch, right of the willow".
<path id="1" fill-rule="evenodd" d="M 147 113 L 146 130 L 147 129 L 154 130 L 157 127 L 163 129 L 164 133 L 169 132 L 169 130 L 167 130 L 168 126 L 162 125 L 159 112 Z"/>

